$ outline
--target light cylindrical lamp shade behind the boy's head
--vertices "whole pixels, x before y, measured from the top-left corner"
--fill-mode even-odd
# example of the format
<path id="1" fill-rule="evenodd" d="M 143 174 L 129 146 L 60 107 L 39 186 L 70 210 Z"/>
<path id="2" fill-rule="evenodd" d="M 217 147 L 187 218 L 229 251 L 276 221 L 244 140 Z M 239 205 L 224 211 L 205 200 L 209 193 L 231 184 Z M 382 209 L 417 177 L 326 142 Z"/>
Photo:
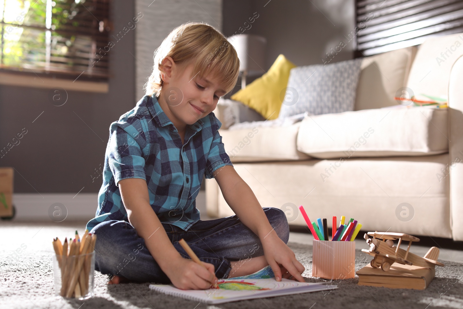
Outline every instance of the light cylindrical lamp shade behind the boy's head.
<path id="1" fill-rule="evenodd" d="M 228 38 L 235 48 L 240 66 L 239 70 L 248 76 L 265 73 L 265 45 L 267 39 L 254 34 L 235 34 Z"/>

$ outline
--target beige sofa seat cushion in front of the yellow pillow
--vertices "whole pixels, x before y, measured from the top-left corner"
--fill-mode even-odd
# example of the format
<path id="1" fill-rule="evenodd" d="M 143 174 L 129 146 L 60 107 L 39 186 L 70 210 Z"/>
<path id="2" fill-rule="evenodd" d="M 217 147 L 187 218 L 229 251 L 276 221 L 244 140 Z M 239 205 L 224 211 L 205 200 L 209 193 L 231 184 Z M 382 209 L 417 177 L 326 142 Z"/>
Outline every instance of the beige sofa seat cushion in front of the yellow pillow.
<path id="1" fill-rule="evenodd" d="M 300 122 L 289 126 L 219 130 L 225 152 L 233 163 L 253 161 L 305 160 L 307 154 L 296 149 Z"/>

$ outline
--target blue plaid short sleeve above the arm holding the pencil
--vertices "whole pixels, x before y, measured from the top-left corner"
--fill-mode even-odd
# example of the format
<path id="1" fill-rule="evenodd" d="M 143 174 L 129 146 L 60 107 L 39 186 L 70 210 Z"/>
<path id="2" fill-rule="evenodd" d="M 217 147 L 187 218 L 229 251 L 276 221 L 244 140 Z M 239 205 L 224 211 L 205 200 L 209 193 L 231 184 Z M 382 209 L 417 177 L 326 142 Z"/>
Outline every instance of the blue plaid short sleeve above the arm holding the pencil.
<path id="1" fill-rule="evenodd" d="M 142 147 L 146 145 L 144 136 L 138 119 L 119 120 L 111 124 L 107 149 L 108 164 L 117 186 L 119 181 L 125 178 L 146 180 L 145 160 L 142 151 Z"/>

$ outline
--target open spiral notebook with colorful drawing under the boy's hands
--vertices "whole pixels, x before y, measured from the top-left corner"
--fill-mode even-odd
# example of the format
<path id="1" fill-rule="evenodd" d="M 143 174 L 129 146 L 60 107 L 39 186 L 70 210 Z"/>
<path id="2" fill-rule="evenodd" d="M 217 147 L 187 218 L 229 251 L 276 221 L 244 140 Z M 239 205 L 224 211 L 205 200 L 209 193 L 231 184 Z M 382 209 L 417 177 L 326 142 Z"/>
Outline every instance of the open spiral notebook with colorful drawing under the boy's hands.
<path id="1" fill-rule="evenodd" d="M 276 281 L 270 266 L 266 266 L 248 276 L 219 280 L 218 289 L 181 290 L 175 288 L 172 284 L 150 284 L 152 290 L 207 304 L 333 290 L 336 288 L 332 284 L 298 282 L 285 278 L 282 278 L 282 281 Z"/>

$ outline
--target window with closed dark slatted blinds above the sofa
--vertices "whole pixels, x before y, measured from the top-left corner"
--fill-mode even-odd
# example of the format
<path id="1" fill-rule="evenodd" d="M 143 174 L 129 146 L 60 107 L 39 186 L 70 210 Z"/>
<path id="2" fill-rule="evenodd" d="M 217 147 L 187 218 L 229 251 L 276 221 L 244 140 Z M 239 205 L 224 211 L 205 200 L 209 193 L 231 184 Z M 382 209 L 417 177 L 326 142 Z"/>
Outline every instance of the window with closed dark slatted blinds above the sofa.
<path id="1" fill-rule="evenodd" d="M 462 0 L 357 0 L 357 57 L 463 32 Z"/>

